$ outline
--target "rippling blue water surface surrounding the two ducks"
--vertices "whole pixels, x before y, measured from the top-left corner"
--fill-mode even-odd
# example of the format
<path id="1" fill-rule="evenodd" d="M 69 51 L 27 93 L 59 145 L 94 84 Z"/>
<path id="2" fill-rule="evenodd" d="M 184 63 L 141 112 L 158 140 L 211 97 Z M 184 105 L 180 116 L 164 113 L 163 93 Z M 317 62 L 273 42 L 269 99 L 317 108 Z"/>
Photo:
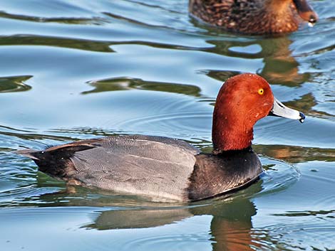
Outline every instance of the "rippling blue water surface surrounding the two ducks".
<path id="1" fill-rule="evenodd" d="M 1 250 L 335 250 L 335 2 L 279 38 L 187 16 L 187 1 L 1 1 Z M 182 204 L 80 188 L 11 151 L 111 134 L 211 147 L 212 104 L 259 73 L 306 122 L 254 128 L 266 173 L 230 198 Z"/>

